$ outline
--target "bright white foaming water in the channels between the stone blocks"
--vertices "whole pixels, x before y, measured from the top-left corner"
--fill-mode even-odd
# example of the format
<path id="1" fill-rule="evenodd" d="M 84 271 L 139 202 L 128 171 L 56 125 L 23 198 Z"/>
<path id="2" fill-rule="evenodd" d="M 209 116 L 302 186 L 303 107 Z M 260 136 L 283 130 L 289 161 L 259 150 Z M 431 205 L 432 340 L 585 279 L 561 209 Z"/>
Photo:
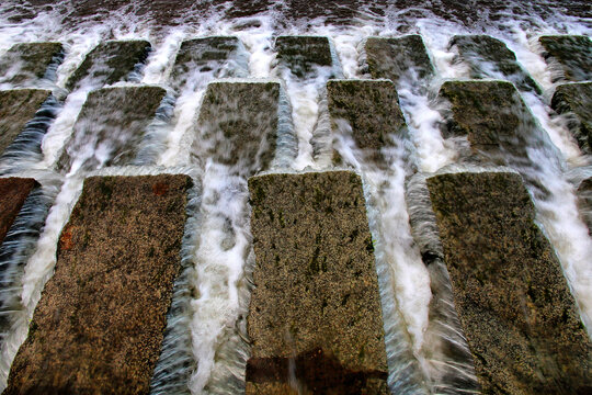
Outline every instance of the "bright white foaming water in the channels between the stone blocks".
<path id="1" fill-rule="evenodd" d="M 327 70 L 318 72 L 312 80 L 298 81 L 274 65 L 274 37 L 278 34 L 307 34 L 329 36 L 345 78 L 361 78 L 358 59 L 360 44 L 367 36 L 397 36 L 405 14 L 394 5 L 387 8 L 385 16 L 366 15 L 352 21 L 352 26 L 332 26 L 322 23 L 295 24 L 285 27 L 274 12 L 264 15 L 237 20 L 225 20 L 223 12 L 228 4 L 208 16 L 206 23 L 189 23 L 171 27 L 156 34 L 150 25 L 126 15 L 112 16 L 102 23 L 86 22 L 76 29 L 64 29 L 58 15 L 41 12 L 35 19 L 21 23 L 3 22 L 0 26 L 0 53 L 16 42 L 43 40 L 60 41 L 66 44 L 66 59 L 58 68 L 56 95 L 64 95 L 60 89 L 67 78 L 76 70 L 84 55 L 105 38 L 147 38 L 155 46 L 144 70 L 141 83 L 166 84 L 182 41 L 209 35 L 238 36 L 248 53 L 248 64 L 242 77 L 280 77 L 284 81 L 292 105 L 293 129 L 298 139 L 298 157 L 292 161 L 294 170 L 322 168 L 323 163 L 314 159 L 311 139 L 319 127 L 328 127 L 323 121 L 323 83 Z M 190 18 L 187 18 L 190 21 Z M 545 90 L 543 98 L 523 94 L 526 104 L 535 114 L 543 129 L 562 155 L 561 167 L 555 168 L 543 153 L 532 153 L 532 161 L 542 163 L 543 170 L 536 174 L 551 190 L 549 200 L 536 200 L 537 219 L 542 223 L 551 244 L 556 248 L 566 275 L 579 302 L 589 332 L 592 330 L 592 284 L 590 264 L 587 257 L 592 252 L 592 241 L 587 234 L 576 210 L 573 187 L 567 182 L 565 172 L 573 167 L 589 166 L 590 158 L 582 156 L 574 145 L 560 117 L 549 115 L 548 100 L 553 94 L 550 72 L 539 55 L 536 36 L 553 33 L 589 34 L 591 29 L 580 21 L 558 14 L 556 19 L 544 21 L 532 15 L 530 23 L 523 20 L 501 22 L 503 30 L 488 27 L 486 33 L 502 40 L 514 50 L 519 61 Z M 424 90 L 418 90 L 414 81 L 401 81 L 397 87 L 400 104 L 409 124 L 411 142 L 414 145 L 419 167 L 424 172 L 435 172 L 440 168 L 458 160 L 458 153 L 440 135 L 442 116 L 433 95 L 443 79 L 466 78 L 467 69 L 462 64 L 453 64 L 454 54 L 447 43 L 454 34 L 470 32 L 459 24 L 443 21 L 433 14 L 419 19 L 409 33 L 420 33 L 436 67 L 436 76 Z M 478 32 L 481 33 L 481 32 Z M 216 77 L 227 77 L 216 76 Z M 193 76 L 192 88 L 178 92 L 172 119 L 160 125 L 158 135 L 162 149 L 157 153 L 156 165 L 159 170 L 171 171 L 190 163 L 193 125 L 200 111 L 206 86 L 213 80 L 210 74 Z M 46 169 L 59 158 L 64 144 L 71 135 L 75 121 L 89 93 L 90 88 L 81 88 L 66 99 L 58 117 L 43 142 L 43 159 L 31 166 L 32 169 Z M 323 124 L 325 122 L 325 124 Z M 343 153 L 354 153 L 351 142 L 338 142 Z M 424 350 L 424 334 L 430 325 L 429 305 L 432 297 L 430 276 L 421 261 L 417 246 L 413 245 L 408 225 L 405 202 L 405 163 L 400 151 L 395 158 L 391 171 L 368 169 L 365 163 L 353 161 L 354 168 L 363 174 L 365 194 L 368 200 L 368 218 L 376 238 L 376 257 L 380 275 L 383 301 L 391 303 L 384 306 L 387 347 L 390 347 L 389 382 L 391 387 L 397 380 L 406 382 L 401 372 L 412 372 L 410 376 L 418 382 L 430 382 L 430 369 Z M 352 154 L 352 158 L 355 155 Z M 547 167 L 548 166 L 548 167 Z M 167 168 L 168 170 L 163 170 Z M 230 176 L 228 169 L 205 161 L 203 176 L 195 176 L 203 183 L 203 201 L 200 205 L 200 236 L 187 241 L 187 259 L 194 266 L 190 276 L 191 286 L 196 290 L 191 301 L 192 317 L 187 321 L 193 338 L 193 358 L 196 370 L 191 377 L 193 394 L 224 393 L 240 388 L 243 377 L 243 363 L 248 357 L 248 346 L 241 339 L 244 314 L 248 309 L 248 275 L 252 269 L 251 236 L 249 230 L 249 205 L 246 179 Z M 517 169 L 531 171 L 532 169 Z M 123 171 L 123 170 L 122 170 Z M 126 170 L 135 173 L 133 170 Z M 200 172 L 197 172 L 200 173 Z M 26 336 L 26 323 L 38 301 L 43 284 L 50 275 L 55 264 L 57 238 L 67 222 L 73 203 L 80 193 L 81 180 L 68 178 L 47 217 L 46 227 L 37 241 L 35 253 L 26 266 L 22 300 L 26 305 L 21 324 L 2 348 L 2 361 L 11 361 L 20 343 Z M 385 262 L 380 267 L 380 262 Z M 390 291 L 389 291 L 390 289 Z M 390 296 L 389 296 L 390 294 Z M 390 297 L 390 300 L 389 300 Z M 389 302 L 391 301 L 391 302 Z M 389 313 L 390 312 L 390 313 Z M 241 318 L 239 318 L 241 317 Z M 397 349 L 394 334 L 409 334 L 409 346 Z M 405 343 L 405 342 L 403 342 Z M 389 346 L 390 345 L 390 346 Z M 409 350 L 408 350 L 409 348 Z M 428 347 L 429 349 L 429 347 Z M 407 358 L 410 351 L 418 362 L 396 366 L 397 356 Z M 5 357 L 5 358 L 4 358 Z M 415 377 L 414 364 L 420 366 L 423 377 Z M 0 383 L 5 382 L 8 364 L 0 366 Z M 410 369 L 409 371 L 407 369 Z M 426 387 L 415 382 L 409 383 L 410 393 L 424 393 Z"/>

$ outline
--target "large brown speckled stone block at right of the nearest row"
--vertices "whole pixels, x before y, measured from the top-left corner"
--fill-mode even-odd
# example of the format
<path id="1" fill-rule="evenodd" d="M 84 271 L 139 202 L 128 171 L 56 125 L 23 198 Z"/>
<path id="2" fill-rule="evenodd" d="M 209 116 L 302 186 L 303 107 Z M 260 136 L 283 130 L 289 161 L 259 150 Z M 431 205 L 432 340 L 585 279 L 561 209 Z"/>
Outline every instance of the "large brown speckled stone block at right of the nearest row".
<path id="1" fill-rule="evenodd" d="M 483 393 L 590 394 L 590 339 L 521 177 L 426 181 Z"/>

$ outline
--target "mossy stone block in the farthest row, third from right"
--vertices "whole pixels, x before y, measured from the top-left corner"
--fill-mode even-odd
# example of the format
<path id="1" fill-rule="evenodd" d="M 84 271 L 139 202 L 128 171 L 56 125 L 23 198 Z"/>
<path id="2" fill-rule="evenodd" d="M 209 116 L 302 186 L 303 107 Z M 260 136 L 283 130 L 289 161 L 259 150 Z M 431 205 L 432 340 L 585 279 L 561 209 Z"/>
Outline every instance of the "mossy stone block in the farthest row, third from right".
<path id="1" fill-rule="evenodd" d="M 397 83 L 411 71 L 420 79 L 432 77 L 434 68 L 420 35 L 397 38 L 369 37 L 366 41 L 366 64 L 372 78 L 387 78 Z"/>

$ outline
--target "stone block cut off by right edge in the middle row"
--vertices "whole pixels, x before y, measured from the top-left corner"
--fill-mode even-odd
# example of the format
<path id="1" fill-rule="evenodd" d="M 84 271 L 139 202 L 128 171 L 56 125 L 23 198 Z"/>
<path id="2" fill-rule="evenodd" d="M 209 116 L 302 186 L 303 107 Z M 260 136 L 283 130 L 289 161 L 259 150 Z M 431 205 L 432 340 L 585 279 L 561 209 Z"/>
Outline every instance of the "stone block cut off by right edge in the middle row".
<path id="1" fill-rule="evenodd" d="M 580 149 L 592 154 L 592 82 L 566 83 L 557 87 L 551 106 L 570 114 L 569 128 Z"/>

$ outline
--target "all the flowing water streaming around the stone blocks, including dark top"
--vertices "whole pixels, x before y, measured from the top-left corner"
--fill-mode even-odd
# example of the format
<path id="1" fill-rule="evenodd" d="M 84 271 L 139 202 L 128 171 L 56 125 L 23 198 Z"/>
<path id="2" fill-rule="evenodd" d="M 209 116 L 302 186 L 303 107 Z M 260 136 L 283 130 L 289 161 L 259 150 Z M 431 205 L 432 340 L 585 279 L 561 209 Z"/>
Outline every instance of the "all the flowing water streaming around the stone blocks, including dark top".
<path id="1" fill-rule="evenodd" d="M 35 177 L 43 185 L 43 199 L 52 205 L 38 238 L 20 240 L 22 251 L 11 258 L 23 273 L 18 290 L 9 295 L 14 298 L 14 292 L 20 294 L 20 307 L 7 313 L 12 325 L 0 345 L 0 388 L 5 386 L 10 363 L 26 337 L 27 323 L 53 272 L 57 240 L 83 178 L 182 172 L 190 174 L 196 187 L 187 206 L 183 272 L 175 284 L 152 392 L 183 393 L 187 385 L 192 394 L 243 391 L 250 352 L 246 317 L 254 267 L 247 179 L 258 167 L 224 165 L 209 157 L 204 148 L 207 134 L 196 122 L 208 83 L 225 80 L 281 83 L 277 147 L 266 171 L 334 169 L 328 155 L 332 145 L 344 158 L 344 167 L 362 174 L 392 393 L 478 393 L 423 181 L 439 170 L 482 170 L 464 163 L 466 142 L 444 140 L 440 132 L 445 122 L 445 103 L 435 100 L 440 86 L 445 80 L 469 77 L 467 65 L 457 60 L 455 48 L 448 47 L 456 34 L 489 34 L 501 40 L 542 87 L 540 94 L 521 92 L 528 109 L 524 116 L 534 116 L 537 136 L 528 143 L 528 159 L 508 155 L 504 165 L 526 180 L 536 219 L 557 252 L 592 334 L 592 268 L 588 258 L 592 239 L 578 214 L 574 194 L 576 182 L 590 177 L 592 160 L 579 150 L 567 121 L 549 108 L 555 71 L 546 65 L 536 41 L 543 34 L 590 35 L 592 20 L 585 1 L 509 1 L 503 5 L 482 0 L 466 4 L 405 0 L 349 0 L 340 5 L 296 0 L 238 3 L 39 0 L 0 5 L 0 55 L 15 43 L 41 41 L 60 42 L 66 53 L 55 76 L 48 77 L 53 82 L 44 82 L 44 88 L 54 92 L 53 99 L 27 125 L 21 140 L 0 158 L 3 176 Z M 389 163 L 385 170 L 362 159 L 346 123 L 339 123 L 333 140 L 325 86 L 329 78 L 369 78 L 363 67 L 367 37 L 409 33 L 422 36 L 435 74 L 425 80 L 409 72 L 397 82 L 408 135 L 391 136 L 392 148 L 383 153 Z M 280 35 L 329 37 L 333 67 L 319 67 L 307 78 L 294 76 L 276 59 L 274 41 Z M 213 36 L 238 37 L 240 45 L 223 67 L 192 70 L 183 77 L 183 86 L 175 86 L 173 65 L 182 42 Z M 98 88 L 95 82 L 86 81 L 68 94 L 68 78 L 98 43 L 130 38 L 149 41 L 152 50 L 144 68 L 115 86 L 156 84 L 167 89 L 137 156 L 124 167 L 73 169 L 68 174 L 53 171 L 84 101 Z M 489 78 L 504 79 L 485 61 L 480 67 L 491 71 Z M 41 150 L 31 153 L 39 140 Z M 537 193 L 539 184 L 548 193 Z M 451 349 L 455 351 L 446 352 Z"/>

